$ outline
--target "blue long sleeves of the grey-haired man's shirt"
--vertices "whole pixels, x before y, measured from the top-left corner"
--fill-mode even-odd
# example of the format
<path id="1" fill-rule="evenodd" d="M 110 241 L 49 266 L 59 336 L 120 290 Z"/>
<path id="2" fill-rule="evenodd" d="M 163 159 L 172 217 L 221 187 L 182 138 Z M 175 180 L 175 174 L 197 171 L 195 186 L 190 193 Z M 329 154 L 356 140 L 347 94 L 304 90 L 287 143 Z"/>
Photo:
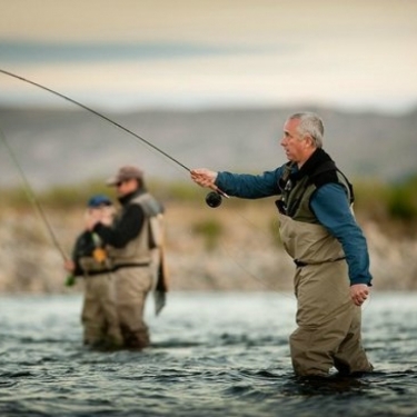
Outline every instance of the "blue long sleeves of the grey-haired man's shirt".
<path id="1" fill-rule="evenodd" d="M 282 173 L 284 167 L 259 176 L 219 172 L 216 185 L 230 196 L 264 198 L 280 195 L 278 180 Z M 350 284 L 370 285 L 367 242 L 350 211 L 345 188 L 334 182 L 321 186 L 312 195 L 310 207 L 318 221 L 340 242 L 349 267 Z"/>

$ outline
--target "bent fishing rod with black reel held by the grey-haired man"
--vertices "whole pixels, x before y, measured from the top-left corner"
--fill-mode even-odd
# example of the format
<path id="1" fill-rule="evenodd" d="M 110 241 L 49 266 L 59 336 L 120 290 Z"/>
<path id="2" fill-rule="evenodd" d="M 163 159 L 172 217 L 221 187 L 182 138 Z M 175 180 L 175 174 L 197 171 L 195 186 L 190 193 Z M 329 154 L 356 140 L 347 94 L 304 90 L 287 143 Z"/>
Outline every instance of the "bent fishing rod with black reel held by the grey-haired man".
<path id="1" fill-rule="evenodd" d="M 6 75 L 6 76 L 9 76 L 9 77 L 16 78 L 16 79 L 18 79 L 18 80 L 20 80 L 20 81 L 23 81 L 23 82 L 27 82 L 27 83 L 29 83 L 29 85 L 32 85 L 32 86 L 34 86 L 34 87 L 38 87 L 38 88 L 40 88 L 40 89 L 42 89 L 42 90 L 44 90 L 44 91 L 48 91 L 48 92 L 50 92 L 50 93 L 52 93 L 52 95 L 54 95 L 54 96 L 57 96 L 57 97 L 60 97 L 61 99 L 63 99 L 63 100 L 66 100 L 66 101 L 71 102 L 71 103 L 75 105 L 75 106 L 80 107 L 81 109 L 87 110 L 88 112 L 90 112 L 90 113 L 97 116 L 98 118 L 100 118 L 100 119 L 107 121 L 108 123 L 110 123 L 110 125 L 117 127 L 118 129 L 121 129 L 122 131 L 127 132 L 127 133 L 130 135 L 131 137 L 136 138 L 137 140 L 141 141 L 142 143 L 147 145 L 149 148 L 151 148 L 151 149 L 156 150 L 157 152 L 161 153 L 161 155 L 165 156 L 166 158 L 170 159 L 172 162 L 177 163 L 179 167 L 183 168 L 186 171 L 191 172 L 191 169 L 188 168 L 188 167 L 187 167 L 186 165 L 183 165 L 182 162 L 180 162 L 178 159 L 173 158 L 172 156 L 170 156 L 169 153 L 167 153 L 167 152 L 163 151 L 162 149 L 158 148 L 156 145 L 153 145 L 153 143 L 150 142 L 149 140 L 142 138 L 142 137 L 139 136 L 138 133 L 136 133 L 136 132 L 133 132 L 132 130 L 128 129 L 127 127 L 125 127 L 125 126 L 118 123 L 117 121 L 110 119 L 109 117 L 107 117 L 107 116 L 100 113 L 99 111 L 97 111 L 97 110 L 95 110 L 95 109 L 92 109 L 92 108 L 90 108 L 90 107 L 88 107 L 88 106 L 86 106 L 86 105 L 83 105 L 83 103 L 81 103 L 81 102 L 79 102 L 79 101 L 77 101 L 77 100 L 75 100 L 75 99 L 72 99 L 72 98 L 70 98 L 70 97 L 63 95 L 63 93 L 61 93 L 61 92 L 58 92 L 58 91 L 56 91 L 56 90 L 52 90 L 51 88 L 48 88 L 48 87 L 42 86 L 42 85 L 40 85 L 40 83 L 38 83 L 38 82 L 31 81 L 31 80 L 29 80 L 29 79 L 27 79 L 27 78 L 24 78 L 24 77 L 21 77 L 21 76 L 16 75 L 16 73 L 13 73 L 13 72 L 6 71 L 6 70 L 3 70 L 3 69 L 1 69 L 1 68 L 0 68 L 0 72 L 3 73 L 3 75 Z M 211 192 L 209 192 L 209 193 L 207 195 L 207 197 L 206 197 L 206 202 L 207 202 L 207 205 L 208 205 L 209 207 L 211 207 L 211 208 L 218 207 L 218 206 L 221 205 L 221 201 L 222 201 L 222 200 L 221 200 L 221 197 L 229 198 L 229 196 L 228 196 L 226 192 L 221 191 L 218 187 L 214 186 L 214 191 L 211 191 Z"/>

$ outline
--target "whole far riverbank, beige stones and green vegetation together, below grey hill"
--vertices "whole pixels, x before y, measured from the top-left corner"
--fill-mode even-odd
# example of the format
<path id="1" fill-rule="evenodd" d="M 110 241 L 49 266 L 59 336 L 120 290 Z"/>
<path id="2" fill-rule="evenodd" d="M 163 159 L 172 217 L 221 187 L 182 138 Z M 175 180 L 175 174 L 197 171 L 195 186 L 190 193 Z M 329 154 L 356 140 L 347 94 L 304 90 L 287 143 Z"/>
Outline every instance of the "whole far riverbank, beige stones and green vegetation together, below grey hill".
<path id="1" fill-rule="evenodd" d="M 354 181 L 355 212 L 364 228 L 376 288 L 417 289 L 417 176 L 395 185 Z M 294 265 L 281 247 L 275 198 L 224 199 L 209 208 L 192 182 L 149 181 L 166 207 L 171 290 L 290 290 Z M 71 252 L 93 193 L 113 197 L 102 181 L 37 191 L 59 245 Z M 33 196 L 2 189 L 0 292 L 60 292 L 64 271 Z M 31 203 L 32 202 L 32 203 Z M 78 288 L 80 290 L 81 287 Z"/>

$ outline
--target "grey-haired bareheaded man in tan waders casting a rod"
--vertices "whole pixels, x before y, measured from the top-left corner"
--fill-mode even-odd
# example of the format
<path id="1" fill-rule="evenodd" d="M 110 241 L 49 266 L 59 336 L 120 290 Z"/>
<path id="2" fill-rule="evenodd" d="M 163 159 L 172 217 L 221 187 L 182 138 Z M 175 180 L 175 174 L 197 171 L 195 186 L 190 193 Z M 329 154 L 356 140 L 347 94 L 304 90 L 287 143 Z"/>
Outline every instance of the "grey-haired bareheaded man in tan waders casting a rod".
<path id="1" fill-rule="evenodd" d="M 298 376 L 373 370 L 361 345 L 360 306 L 371 276 L 366 239 L 351 211 L 353 188 L 322 149 L 324 125 L 309 112 L 290 116 L 281 146 L 289 162 L 262 175 L 191 170 L 202 187 L 240 198 L 278 196 L 279 231 L 294 259 L 298 328 L 290 336 Z"/>

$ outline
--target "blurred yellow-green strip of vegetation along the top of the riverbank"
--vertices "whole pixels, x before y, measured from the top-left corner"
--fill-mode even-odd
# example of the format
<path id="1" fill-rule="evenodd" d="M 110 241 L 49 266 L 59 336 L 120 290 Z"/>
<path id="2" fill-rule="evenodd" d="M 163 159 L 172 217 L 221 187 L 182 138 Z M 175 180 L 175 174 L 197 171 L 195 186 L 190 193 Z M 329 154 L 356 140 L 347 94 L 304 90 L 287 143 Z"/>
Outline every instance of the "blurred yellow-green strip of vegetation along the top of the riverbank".
<path id="1" fill-rule="evenodd" d="M 365 220 L 389 222 L 393 231 L 396 227 L 407 226 L 415 230 L 417 224 L 417 173 L 396 183 L 379 182 L 378 180 L 356 180 L 355 212 Z M 198 209 L 205 205 L 207 190 L 186 181 L 152 180 L 149 190 L 166 205 L 170 202 L 183 203 Z M 0 190 L 3 205 L 18 210 L 30 206 L 33 196 L 24 188 L 2 188 Z M 93 193 L 106 193 L 112 197 L 113 190 L 102 183 L 101 180 L 91 180 L 78 185 L 58 186 L 37 191 L 36 200 L 42 207 L 54 210 L 69 210 L 83 207 L 88 198 Z M 270 205 L 270 199 L 256 201 L 258 207 L 265 202 Z M 231 207 L 245 207 L 252 201 L 231 198 L 227 205 Z M 221 210 L 219 208 L 218 210 Z"/>

